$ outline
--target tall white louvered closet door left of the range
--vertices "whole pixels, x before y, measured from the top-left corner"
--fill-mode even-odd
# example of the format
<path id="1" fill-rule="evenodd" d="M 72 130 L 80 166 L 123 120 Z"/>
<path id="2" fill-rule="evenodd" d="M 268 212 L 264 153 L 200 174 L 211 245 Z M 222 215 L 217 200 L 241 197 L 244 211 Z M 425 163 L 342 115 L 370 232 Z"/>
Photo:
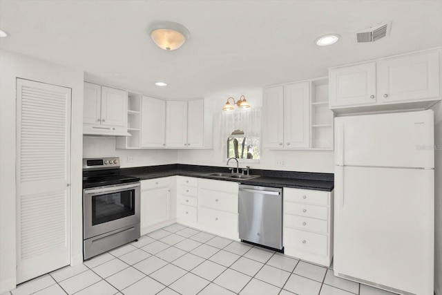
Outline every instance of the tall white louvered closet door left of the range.
<path id="1" fill-rule="evenodd" d="M 70 264 L 70 102 L 17 79 L 17 283 Z"/>

